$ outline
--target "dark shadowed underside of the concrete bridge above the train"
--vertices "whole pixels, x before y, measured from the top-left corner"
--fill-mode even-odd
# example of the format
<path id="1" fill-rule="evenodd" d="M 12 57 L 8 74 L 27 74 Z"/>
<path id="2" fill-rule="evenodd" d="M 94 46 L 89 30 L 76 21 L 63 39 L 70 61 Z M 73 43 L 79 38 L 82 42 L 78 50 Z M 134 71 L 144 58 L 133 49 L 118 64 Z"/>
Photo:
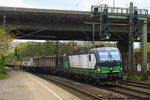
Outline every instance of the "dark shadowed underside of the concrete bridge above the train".
<path id="1" fill-rule="evenodd" d="M 90 26 L 92 27 L 92 25 Z M 91 28 L 90 28 L 91 29 Z M 80 30 L 50 30 L 49 28 L 38 28 L 38 29 L 25 29 L 25 28 L 15 28 L 13 30 L 15 34 L 17 34 L 18 39 L 35 39 L 35 40 L 84 40 L 84 41 L 92 41 L 93 33 L 91 31 L 85 31 L 84 28 Z M 113 32 L 110 31 L 111 38 L 109 41 L 128 41 L 128 33 L 127 32 Z M 98 31 L 94 34 L 94 40 L 100 41 L 100 34 Z"/>

